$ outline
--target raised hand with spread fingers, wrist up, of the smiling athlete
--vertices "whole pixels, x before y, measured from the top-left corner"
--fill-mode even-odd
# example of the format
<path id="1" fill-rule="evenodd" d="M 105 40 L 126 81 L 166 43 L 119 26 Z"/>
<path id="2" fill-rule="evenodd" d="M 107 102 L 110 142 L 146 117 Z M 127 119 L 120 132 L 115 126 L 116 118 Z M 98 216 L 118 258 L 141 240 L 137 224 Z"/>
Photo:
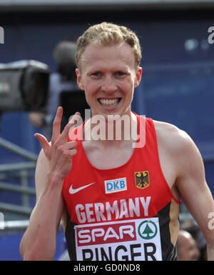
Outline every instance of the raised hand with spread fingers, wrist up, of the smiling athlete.
<path id="1" fill-rule="evenodd" d="M 34 136 L 39 140 L 46 159 L 49 161 L 50 172 L 61 179 L 65 179 L 71 170 L 72 157 L 76 155 L 77 145 L 76 141 L 67 141 L 68 134 L 81 116 L 80 113 L 76 112 L 60 134 L 62 114 L 62 107 L 58 107 L 53 123 L 51 143 L 42 134 L 36 133 Z"/>

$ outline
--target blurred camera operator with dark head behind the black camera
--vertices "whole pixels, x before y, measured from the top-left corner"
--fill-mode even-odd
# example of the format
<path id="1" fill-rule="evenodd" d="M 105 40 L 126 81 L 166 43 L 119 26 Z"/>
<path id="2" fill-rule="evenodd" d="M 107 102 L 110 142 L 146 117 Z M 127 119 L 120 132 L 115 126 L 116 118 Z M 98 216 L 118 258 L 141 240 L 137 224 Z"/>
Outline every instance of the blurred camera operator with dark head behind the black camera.
<path id="1" fill-rule="evenodd" d="M 76 84 L 75 54 L 76 43 L 73 41 L 65 40 L 56 45 L 53 56 L 57 65 L 57 73 L 51 74 L 50 76 L 49 99 L 46 106 L 46 112 L 30 112 L 29 114 L 31 124 L 43 128 L 43 134 L 48 140 L 51 140 L 52 123 L 56 114 L 56 109 L 60 104 L 59 98 L 61 91 L 79 89 Z M 63 128 L 68 121 L 62 122 Z"/>

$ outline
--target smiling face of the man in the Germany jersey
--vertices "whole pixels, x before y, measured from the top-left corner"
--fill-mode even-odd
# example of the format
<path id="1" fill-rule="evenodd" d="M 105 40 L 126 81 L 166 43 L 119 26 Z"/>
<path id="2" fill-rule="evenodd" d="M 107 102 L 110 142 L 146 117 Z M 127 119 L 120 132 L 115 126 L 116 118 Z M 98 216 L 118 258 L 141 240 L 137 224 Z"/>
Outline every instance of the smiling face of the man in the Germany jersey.
<path id="1" fill-rule="evenodd" d="M 76 69 L 78 85 L 85 90 L 92 116 L 131 114 L 133 90 L 141 81 L 131 46 L 89 44 Z"/>

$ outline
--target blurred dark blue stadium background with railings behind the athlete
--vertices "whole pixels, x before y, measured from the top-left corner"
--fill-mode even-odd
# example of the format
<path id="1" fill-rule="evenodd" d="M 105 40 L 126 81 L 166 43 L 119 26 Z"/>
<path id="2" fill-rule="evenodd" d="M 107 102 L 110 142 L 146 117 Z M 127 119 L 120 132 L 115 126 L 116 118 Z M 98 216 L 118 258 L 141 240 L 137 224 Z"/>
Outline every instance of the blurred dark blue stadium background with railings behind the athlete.
<path id="1" fill-rule="evenodd" d="M 101 21 L 130 27 L 141 40 L 143 54 L 143 79 L 133 111 L 190 134 L 214 195 L 214 44 L 208 43 L 213 15 L 212 0 L 1 0 L 0 63 L 34 59 L 54 72 L 52 52 L 59 41 L 76 40 Z M 3 112 L 0 120 L 0 211 L 5 221 L 0 260 L 21 260 L 19 243 L 35 204 L 34 167 L 40 147 L 34 133 L 41 129 L 29 123 L 28 115 Z M 184 206 L 182 213 L 188 215 Z M 60 230 L 55 259 L 63 250 Z"/>

